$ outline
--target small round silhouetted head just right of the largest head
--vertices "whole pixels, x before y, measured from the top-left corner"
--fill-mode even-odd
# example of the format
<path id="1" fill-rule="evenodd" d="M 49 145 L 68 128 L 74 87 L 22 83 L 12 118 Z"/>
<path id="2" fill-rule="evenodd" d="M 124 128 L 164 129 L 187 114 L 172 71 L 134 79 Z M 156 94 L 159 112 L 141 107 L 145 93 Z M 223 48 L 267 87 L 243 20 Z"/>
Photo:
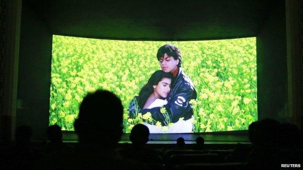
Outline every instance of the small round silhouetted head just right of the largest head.
<path id="1" fill-rule="evenodd" d="M 144 124 L 136 124 L 131 131 L 130 140 L 135 146 L 142 146 L 148 142 L 150 136 L 149 128 Z"/>

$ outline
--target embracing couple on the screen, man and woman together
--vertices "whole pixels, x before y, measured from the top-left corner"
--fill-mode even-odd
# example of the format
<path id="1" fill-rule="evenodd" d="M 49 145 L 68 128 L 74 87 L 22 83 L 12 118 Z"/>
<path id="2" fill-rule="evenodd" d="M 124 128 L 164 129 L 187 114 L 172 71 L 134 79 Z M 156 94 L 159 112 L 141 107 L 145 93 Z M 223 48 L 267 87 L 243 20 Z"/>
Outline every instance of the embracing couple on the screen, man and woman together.
<path id="1" fill-rule="evenodd" d="M 130 102 L 129 116 L 151 114 L 152 120 L 162 126 L 143 123 L 150 133 L 192 132 L 194 116 L 189 101 L 197 98 L 197 92 L 181 67 L 180 49 L 173 45 L 161 46 L 157 59 L 161 70 L 152 74 L 139 95 Z"/>

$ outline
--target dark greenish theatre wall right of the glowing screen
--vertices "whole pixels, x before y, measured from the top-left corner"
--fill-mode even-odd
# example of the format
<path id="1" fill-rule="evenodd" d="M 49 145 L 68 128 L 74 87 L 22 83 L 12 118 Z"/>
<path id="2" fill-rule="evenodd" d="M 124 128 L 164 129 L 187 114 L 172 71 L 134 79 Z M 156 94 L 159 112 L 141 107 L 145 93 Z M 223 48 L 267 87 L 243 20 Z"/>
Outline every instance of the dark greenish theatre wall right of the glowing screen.
<path id="1" fill-rule="evenodd" d="M 287 121 L 285 4 L 271 9 L 257 35 L 258 118 Z"/>

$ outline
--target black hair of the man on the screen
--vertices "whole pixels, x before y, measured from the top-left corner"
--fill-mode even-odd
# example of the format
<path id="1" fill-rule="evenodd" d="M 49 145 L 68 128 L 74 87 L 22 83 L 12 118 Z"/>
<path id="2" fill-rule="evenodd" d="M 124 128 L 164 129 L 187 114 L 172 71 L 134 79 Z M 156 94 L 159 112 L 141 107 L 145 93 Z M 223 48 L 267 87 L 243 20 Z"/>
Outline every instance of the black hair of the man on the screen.
<path id="1" fill-rule="evenodd" d="M 173 57 L 175 60 L 179 60 L 179 63 L 177 66 L 181 67 L 182 56 L 181 56 L 181 51 L 178 47 L 171 45 L 171 44 L 166 44 L 164 46 L 161 46 L 157 52 L 158 61 L 160 61 L 160 59 L 163 58 L 165 53 L 169 57 Z"/>

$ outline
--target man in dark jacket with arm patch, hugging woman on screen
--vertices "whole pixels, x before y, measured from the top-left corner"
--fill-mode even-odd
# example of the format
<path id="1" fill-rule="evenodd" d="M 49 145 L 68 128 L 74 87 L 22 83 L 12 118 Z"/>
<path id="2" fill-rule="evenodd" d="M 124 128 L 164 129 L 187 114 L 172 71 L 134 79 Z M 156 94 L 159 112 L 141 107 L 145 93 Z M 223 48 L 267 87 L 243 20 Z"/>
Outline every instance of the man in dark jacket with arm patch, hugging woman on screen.
<path id="1" fill-rule="evenodd" d="M 157 59 L 162 71 L 173 75 L 171 89 L 167 97 L 168 102 L 163 107 L 143 108 L 140 111 L 142 115 L 150 112 L 153 120 L 162 124 L 166 124 L 165 114 L 168 114 L 170 123 L 174 123 L 168 127 L 168 133 L 192 132 L 194 118 L 189 101 L 197 98 L 197 92 L 181 67 L 180 49 L 173 45 L 161 46 L 157 52 Z M 157 130 L 153 131 L 157 128 L 155 125 L 148 125 L 148 127 L 151 133 L 162 133 Z"/>

